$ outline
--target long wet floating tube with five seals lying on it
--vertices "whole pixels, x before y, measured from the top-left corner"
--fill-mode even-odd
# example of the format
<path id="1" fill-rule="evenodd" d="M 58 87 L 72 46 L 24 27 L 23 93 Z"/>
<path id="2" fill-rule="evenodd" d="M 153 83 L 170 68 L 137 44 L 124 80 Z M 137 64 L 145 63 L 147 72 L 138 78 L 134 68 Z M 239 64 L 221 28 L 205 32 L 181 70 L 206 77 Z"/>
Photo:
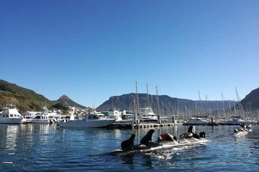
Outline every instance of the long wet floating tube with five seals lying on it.
<path id="1" fill-rule="evenodd" d="M 110 153 L 109 155 L 114 155 L 114 156 L 121 156 L 121 155 L 128 155 L 128 154 L 133 154 L 136 152 L 152 152 L 154 150 L 162 150 L 162 149 L 168 149 L 172 148 L 175 146 L 184 146 L 184 145 L 191 145 L 191 144 L 200 144 L 200 143 L 205 143 L 205 142 L 210 142 L 210 140 L 207 140 L 205 138 L 180 138 L 178 139 L 179 142 L 177 141 L 157 141 L 157 142 L 150 142 L 148 146 L 138 144 L 134 145 L 134 147 L 130 150 L 114 150 Z"/>

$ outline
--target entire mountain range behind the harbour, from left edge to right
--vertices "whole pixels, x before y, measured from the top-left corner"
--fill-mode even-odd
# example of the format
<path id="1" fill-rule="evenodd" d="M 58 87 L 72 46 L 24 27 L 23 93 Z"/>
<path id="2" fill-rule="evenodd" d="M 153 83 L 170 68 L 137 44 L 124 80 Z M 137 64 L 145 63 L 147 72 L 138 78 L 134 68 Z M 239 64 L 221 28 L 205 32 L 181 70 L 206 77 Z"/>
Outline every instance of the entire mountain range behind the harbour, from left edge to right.
<path id="1" fill-rule="evenodd" d="M 138 100 L 140 108 L 152 107 L 155 114 L 158 114 L 158 101 L 156 95 L 148 95 L 139 93 Z M 112 107 L 121 110 L 134 110 L 134 99 L 135 105 L 137 104 L 137 94 L 129 93 L 120 96 L 112 96 L 99 107 L 96 108 L 97 111 L 106 111 Z M 149 100 L 149 101 L 148 101 Z M 215 111 L 217 109 L 227 109 L 229 106 L 233 107 L 237 102 L 233 100 L 230 101 L 199 101 L 199 100 L 188 100 L 173 98 L 167 95 L 159 95 L 159 107 L 160 114 L 176 114 L 177 112 L 184 112 L 188 114 L 193 114 L 197 111 L 197 107 L 203 108 L 205 111 Z M 39 111 L 42 109 L 44 104 L 52 106 L 57 103 L 61 103 L 64 106 L 76 106 L 80 108 L 86 108 L 75 101 L 71 100 L 66 95 L 61 96 L 58 100 L 49 100 L 41 94 L 35 93 L 33 90 L 17 86 L 16 84 L 6 82 L 0 79 L 0 106 L 5 106 L 9 103 L 16 104 L 20 109 L 20 112 L 24 111 Z M 240 101 L 240 103 L 247 110 L 256 111 L 259 108 L 259 88 L 251 91 L 246 97 Z M 236 105 L 237 106 L 237 105 Z"/>

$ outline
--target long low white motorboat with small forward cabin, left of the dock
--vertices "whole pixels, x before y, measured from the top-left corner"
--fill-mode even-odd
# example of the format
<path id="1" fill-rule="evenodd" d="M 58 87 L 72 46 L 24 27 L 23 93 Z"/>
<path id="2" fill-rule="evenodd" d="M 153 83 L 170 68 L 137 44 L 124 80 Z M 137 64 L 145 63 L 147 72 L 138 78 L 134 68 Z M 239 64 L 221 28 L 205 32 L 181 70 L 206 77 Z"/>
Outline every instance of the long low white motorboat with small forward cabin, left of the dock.
<path id="1" fill-rule="evenodd" d="M 67 122 L 60 122 L 59 127 L 71 128 L 100 128 L 111 125 L 116 119 L 109 119 L 104 114 L 86 114 L 84 120 L 70 120 Z"/>

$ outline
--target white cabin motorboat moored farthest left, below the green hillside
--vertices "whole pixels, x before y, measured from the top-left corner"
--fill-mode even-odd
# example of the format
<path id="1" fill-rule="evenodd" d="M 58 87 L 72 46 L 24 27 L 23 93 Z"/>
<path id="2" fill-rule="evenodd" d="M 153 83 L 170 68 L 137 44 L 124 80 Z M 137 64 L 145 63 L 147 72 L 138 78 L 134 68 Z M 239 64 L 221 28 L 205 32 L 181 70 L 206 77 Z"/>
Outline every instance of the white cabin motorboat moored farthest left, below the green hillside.
<path id="1" fill-rule="evenodd" d="M 18 109 L 11 105 L 11 107 L 5 107 L 4 111 L 0 114 L 0 123 L 3 124 L 20 124 L 23 121 L 23 117 L 18 112 Z"/>

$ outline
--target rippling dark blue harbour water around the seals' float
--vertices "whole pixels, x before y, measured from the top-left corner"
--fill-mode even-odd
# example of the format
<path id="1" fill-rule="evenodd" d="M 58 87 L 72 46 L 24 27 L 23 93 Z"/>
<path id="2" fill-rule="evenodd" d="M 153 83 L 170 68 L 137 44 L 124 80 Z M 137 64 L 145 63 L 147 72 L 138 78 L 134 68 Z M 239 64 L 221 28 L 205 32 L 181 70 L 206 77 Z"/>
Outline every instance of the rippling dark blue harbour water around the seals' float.
<path id="1" fill-rule="evenodd" d="M 89 156 L 120 148 L 136 134 L 135 144 L 150 128 L 68 129 L 56 125 L 0 124 L 0 171 L 258 171 L 259 125 L 242 136 L 230 135 L 237 126 L 195 126 L 214 140 L 199 146 L 184 146 L 130 156 Z M 179 136 L 188 126 L 154 128 L 153 141 L 168 132 Z"/>

